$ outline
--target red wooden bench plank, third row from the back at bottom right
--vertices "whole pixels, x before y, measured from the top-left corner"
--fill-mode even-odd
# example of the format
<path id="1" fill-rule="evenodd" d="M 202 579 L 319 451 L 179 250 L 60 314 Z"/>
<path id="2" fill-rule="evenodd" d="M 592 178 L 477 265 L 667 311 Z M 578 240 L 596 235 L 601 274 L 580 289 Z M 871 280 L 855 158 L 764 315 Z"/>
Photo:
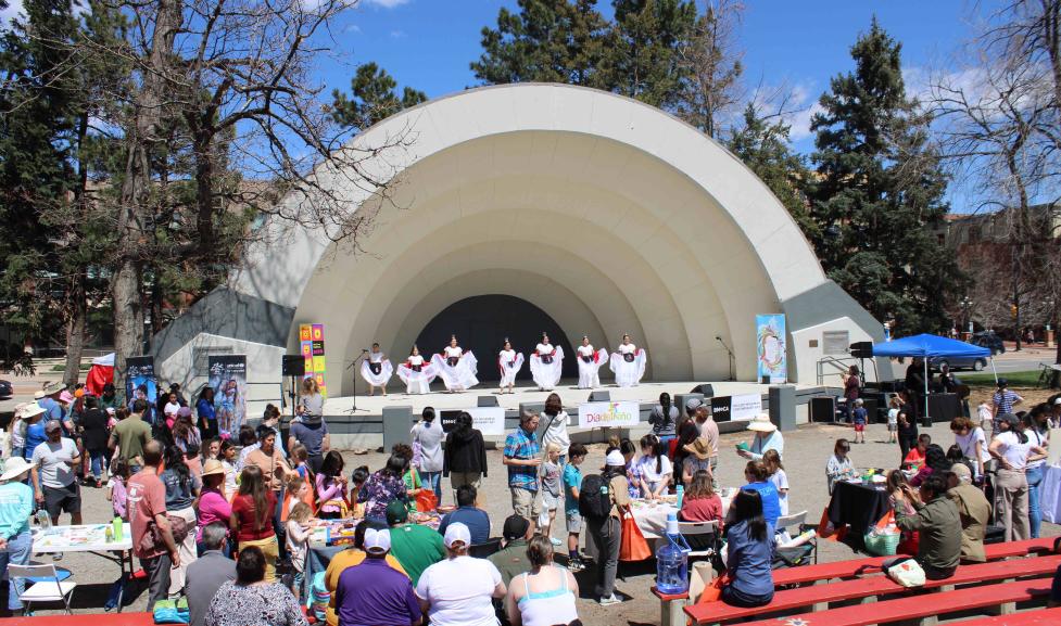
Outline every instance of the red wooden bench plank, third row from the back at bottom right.
<path id="1" fill-rule="evenodd" d="M 858 604 L 819 613 L 771 617 L 747 622 L 745 626 L 791 626 L 800 622 L 813 624 L 813 626 L 870 626 L 871 624 L 888 624 L 905 619 L 934 618 L 938 615 L 969 609 L 1024 602 L 1033 598 L 1044 597 L 1049 592 L 1050 580 L 1018 580 L 1000 585 L 968 587 L 944 593 L 918 593 L 897 600 L 876 602 L 872 609 Z M 1007 615 L 1007 617 L 1011 617 L 1011 615 Z"/>

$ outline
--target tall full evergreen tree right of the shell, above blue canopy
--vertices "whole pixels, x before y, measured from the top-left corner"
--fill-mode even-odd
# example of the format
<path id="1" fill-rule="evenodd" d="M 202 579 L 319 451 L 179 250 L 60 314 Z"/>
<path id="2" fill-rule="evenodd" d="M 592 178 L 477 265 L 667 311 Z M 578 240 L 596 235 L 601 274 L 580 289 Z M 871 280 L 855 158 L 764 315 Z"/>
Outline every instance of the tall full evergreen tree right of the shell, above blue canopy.
<path id="1" fill-rule="evenodd" d="M 932 232 L 947 213 L 947 177 L 929 119 L 906 94 L 900 44 L 874 18 L 851 48 L 855 72 L 834 77 L 814 116 L 808 232 L 829 276 L 902 332 L 948 325 L 963 278 Z"/>

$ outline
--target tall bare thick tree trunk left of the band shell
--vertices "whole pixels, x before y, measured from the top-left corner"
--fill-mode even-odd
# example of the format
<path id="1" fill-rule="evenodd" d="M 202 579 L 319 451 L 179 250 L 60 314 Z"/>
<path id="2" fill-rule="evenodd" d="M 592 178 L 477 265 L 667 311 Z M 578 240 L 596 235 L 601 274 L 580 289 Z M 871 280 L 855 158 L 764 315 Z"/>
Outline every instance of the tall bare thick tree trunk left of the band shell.
<path id="1" fill-rule="evenodd" d="M 122 252 L 111 293 L 114 301 L 114 386 L 125 388 L 126 359 L 143 349 L 143 266 L 150 255 L 152 207 L 151 151 L 160 141 L 159 126 L 173 74 L 174 38 L 180 27 L 178 0 L 155 4 L 151 49 L 146 51 L 143 81 L 134 101 L 134 116 L 126 137 L 128 158 L 122 182 L 117 231 Z"/>

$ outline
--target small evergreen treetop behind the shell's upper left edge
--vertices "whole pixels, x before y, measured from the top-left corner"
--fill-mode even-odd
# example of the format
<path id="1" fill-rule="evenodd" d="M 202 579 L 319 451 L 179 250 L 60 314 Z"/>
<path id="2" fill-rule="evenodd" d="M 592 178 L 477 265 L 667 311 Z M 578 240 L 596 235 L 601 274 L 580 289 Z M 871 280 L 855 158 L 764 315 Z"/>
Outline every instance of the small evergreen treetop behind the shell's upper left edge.
<path id="1" fill-rule="evenodd" d="M 350 81 L 351 98 L 336 89 L 332 92 L 332 117 L 338 124 L 365 129 L 387 119 L 403 108 L 427 101 L 427 94 L 410 87 L 402 90 L 399 98 L 394 89 L 397 82 L 386 69 L 375 63 L 357 68 Z"/>

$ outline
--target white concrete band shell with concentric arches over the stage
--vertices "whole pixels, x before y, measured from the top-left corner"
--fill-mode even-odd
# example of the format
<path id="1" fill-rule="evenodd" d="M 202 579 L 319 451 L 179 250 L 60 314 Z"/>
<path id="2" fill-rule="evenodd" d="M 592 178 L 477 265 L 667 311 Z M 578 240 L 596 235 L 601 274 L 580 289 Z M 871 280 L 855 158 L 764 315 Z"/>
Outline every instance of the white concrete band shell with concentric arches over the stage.
<path id="1" fill-rule="evenodd" d="M 756 314 L 788 314 L 791 337 L 803 337 L 790 344 L 791 376 L 805 382 L 822 330 L 850 330 L 851 341 L 879 334 L 769 189 L 657 108 L 570 86 L 491 87 L 402 112 L 353 145 L 395 137 L 409 143 L 388 150 L 381 163 L 393 169 L 379 170 L 396 174 L 393 204 L 379 209 L 361 252 L 292 231 L 282 247 L 252 251 L 233 277 L 237 294 L 290 314 L 282 338 L 229 333 L 275 346 L 262 375 L 298 352 L 299 323 L 324 323 L 329 389 L 346 394 L 343 368 L 362 347 L 379 341 L 404 355 L 433 316 L 482 294 L 533 302 L 572 344 L 586 333 L 614 348 L 629 332 L 656 380 L 727 378 L 716 336 L 734 347 L 738 378 L 754 380 Z M 349 177 L 319 176 L 352 212 L 368 197 Z M 200 330 L 211 331 L 224 334 Z M 170 376 L 185 378 L 193 335 L 162 350 Z"/>

